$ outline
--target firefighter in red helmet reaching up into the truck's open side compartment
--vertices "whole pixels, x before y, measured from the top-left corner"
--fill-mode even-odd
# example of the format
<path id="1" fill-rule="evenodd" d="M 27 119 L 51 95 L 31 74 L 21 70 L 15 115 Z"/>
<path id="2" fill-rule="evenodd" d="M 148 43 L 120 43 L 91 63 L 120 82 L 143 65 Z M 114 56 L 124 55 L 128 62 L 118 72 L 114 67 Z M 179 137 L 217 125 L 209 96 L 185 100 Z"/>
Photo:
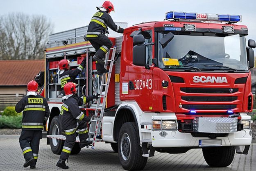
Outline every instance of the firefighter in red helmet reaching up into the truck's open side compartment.
<path id="1" fill-rule="evenodd" d="M 61 80 L 61 88 L 63 88 L 67 82 L 75 81 L 75 78 L 77 77 L 77 75 L 79 73 L 81 73 L 84 69 L 84 66 L 86 64 L 86 58 L 84 58 L 82 63 L 76 69 L 70 70 L 69 63 L 70 63 L 70 61 L 66 60 L 66 59 L 59 61 L 58 74 L 59 74 L 59 78 Z"/>

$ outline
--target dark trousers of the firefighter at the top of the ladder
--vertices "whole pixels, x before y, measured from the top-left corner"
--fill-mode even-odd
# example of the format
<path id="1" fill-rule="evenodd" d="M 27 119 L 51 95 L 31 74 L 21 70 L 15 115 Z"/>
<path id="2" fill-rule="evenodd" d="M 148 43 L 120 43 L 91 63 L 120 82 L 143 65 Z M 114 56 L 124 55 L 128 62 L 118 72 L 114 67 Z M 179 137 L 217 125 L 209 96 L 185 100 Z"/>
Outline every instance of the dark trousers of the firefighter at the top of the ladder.
<path id="1" fill-rule="evenodd" d="M 96 38 L 87 38 L 89 42 L 93 45 L 94 49 L 96 50 L 95 56 L 103 59 L 105 58 L 106 53 L 109 49 L 113 46 L 111 40 L 104 34 L 98 35 Z M 96 69 L 99 72 L 104 71 L 104 66 L 100 63 L 96 63 Z"/>

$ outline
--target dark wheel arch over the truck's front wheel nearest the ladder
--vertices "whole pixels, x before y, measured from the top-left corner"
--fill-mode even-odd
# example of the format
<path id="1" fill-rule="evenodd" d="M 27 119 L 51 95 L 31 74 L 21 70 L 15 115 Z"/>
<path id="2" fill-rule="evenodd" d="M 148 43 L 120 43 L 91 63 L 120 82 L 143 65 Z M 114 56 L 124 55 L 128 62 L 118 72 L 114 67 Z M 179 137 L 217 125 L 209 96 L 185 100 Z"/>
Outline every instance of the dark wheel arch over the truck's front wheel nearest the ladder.
<path id="1" fill-rule="evenodd" d="M 122 125 L 126 122 L 135 122 L 136 126 L 138 127 L 138 120 L 136 118 L 134 109 L 127 105 L 120 107 L 116 113 L 113 127 L 113 140 L 118 140 L 120 129 Z"/>

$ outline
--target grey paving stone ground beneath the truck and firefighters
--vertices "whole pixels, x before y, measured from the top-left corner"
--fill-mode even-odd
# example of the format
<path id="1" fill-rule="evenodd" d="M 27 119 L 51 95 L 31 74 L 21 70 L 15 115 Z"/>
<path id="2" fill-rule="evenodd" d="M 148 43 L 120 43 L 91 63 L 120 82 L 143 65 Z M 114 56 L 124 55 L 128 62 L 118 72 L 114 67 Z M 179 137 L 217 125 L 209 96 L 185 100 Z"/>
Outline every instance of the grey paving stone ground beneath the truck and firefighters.
<path id="1" fill-rule="evenodd" d="M 36 171 L 59 171 L 55 165 L 59 155 L 52 153 L 46 138 L 41 140 Z M 31 170 L 23 168 L 23 155 L 17 138 L 0 138 L 0 171 Z M 84 148 L 77 155 L 70 155 L 70 171 L 118 171 L 123 170 L 118 153 L 110 144 L 97 142 L 96 149 Z M 232 164 L 225 168 L 209 167 L 204 161 L 201 149 L 193 149 L 185 154 L 158 153 L 147 160 L 144 170 L 169 171 L 256 171 L 256 144 L 252 144 L 248 155 L 236 154 Z"/>

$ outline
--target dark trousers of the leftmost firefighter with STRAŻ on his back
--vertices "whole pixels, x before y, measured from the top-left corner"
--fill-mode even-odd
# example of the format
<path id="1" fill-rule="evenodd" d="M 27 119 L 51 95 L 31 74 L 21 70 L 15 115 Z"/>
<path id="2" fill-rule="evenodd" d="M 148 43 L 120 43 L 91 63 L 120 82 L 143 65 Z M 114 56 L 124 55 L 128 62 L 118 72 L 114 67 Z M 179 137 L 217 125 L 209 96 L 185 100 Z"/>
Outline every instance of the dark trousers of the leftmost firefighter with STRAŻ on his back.
<path id="1" fill-rule="evenodd" d="M 42 139 L 42 131 L 35 130 L 22 130 L 20 134 L 20 148 L 22 149 L 23 156 L 27 161 L 29 158 L 34 157 L 35 162 L 38 158 L 39 142 Z"/>

